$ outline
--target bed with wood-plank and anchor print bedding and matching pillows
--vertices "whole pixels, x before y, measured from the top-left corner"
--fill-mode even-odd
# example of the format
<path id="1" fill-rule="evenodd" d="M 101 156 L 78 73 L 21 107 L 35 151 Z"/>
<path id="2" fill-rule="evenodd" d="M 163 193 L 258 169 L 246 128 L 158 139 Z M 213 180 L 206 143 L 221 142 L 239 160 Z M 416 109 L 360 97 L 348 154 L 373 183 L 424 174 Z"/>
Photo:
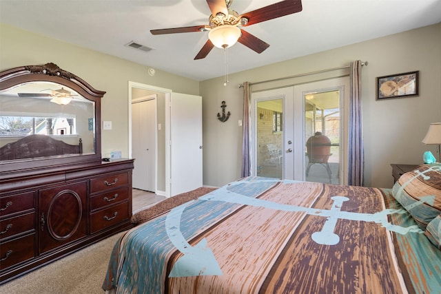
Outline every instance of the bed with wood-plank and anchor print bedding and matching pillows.
<path id="1" fill-rule="evenodd" d="M 248 177 L 116 242 L 116 293 L 441 293 L 441 165 L 393 189 Z"/>

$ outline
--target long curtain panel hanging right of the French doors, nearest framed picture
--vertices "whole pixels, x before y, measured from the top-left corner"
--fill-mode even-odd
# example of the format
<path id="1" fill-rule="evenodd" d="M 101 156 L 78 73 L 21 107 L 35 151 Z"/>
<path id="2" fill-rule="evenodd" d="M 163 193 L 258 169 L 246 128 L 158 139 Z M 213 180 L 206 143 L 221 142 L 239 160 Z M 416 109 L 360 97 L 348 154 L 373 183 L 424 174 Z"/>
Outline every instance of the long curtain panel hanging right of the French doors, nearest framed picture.
<path id="1" fill-rule="evenodd" d="M 349 170 L 348 184 L 363 185 L 364 146 L 362 134 L 361 61 L 351 63 L 349 96 Z"/>

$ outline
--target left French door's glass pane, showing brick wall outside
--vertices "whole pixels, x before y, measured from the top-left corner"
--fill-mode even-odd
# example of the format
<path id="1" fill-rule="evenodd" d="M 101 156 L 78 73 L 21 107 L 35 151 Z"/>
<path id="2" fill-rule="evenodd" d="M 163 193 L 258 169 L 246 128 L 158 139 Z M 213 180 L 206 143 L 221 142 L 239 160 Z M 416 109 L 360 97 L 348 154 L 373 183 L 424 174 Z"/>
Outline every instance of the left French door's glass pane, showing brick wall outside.
<path id="1" fill-rule="evenodd" d="M 283 99 L 257 103 L 257 175 L 283 177 Z"/>

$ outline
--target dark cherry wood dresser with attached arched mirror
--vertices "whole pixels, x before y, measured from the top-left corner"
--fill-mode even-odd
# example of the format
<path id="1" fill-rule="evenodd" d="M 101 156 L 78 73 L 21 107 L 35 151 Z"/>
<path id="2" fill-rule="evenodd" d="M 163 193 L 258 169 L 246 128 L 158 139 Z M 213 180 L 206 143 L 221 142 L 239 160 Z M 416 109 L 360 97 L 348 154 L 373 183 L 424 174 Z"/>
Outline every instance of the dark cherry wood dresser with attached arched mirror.
<path id="1" fill-rule="evenodd" d="M 132 227 L 134 160 L 101 161 L 104 94 L 54 63 L 0 72 L 0 284 Z"/>

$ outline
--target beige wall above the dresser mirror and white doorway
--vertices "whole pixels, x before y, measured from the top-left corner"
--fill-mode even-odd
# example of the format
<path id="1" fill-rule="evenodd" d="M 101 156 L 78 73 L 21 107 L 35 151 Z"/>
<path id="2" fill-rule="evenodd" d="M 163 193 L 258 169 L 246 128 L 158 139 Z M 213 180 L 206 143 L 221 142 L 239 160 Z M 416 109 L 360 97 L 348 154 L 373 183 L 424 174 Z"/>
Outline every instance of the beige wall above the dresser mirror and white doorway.
<path id="1" fill-rule="evenodd" d="M 107 93 L 101 103 L 101 120 L 112 121 L 112 130 L 103 130 L 102 154 L 120 150 L 128 156 L 128 83 L 144 83 L 174 92 L 199 94 L 198 81 L 156 70 L 107 54 L 80 48 L 24 30 L 0 24 L 0 70 L 48 62 L 83 78 L 97 90 Z M 129 48 L 130 49 L 130 48 Z M 146 54 L 148 59 L 148 54 Z"/>

